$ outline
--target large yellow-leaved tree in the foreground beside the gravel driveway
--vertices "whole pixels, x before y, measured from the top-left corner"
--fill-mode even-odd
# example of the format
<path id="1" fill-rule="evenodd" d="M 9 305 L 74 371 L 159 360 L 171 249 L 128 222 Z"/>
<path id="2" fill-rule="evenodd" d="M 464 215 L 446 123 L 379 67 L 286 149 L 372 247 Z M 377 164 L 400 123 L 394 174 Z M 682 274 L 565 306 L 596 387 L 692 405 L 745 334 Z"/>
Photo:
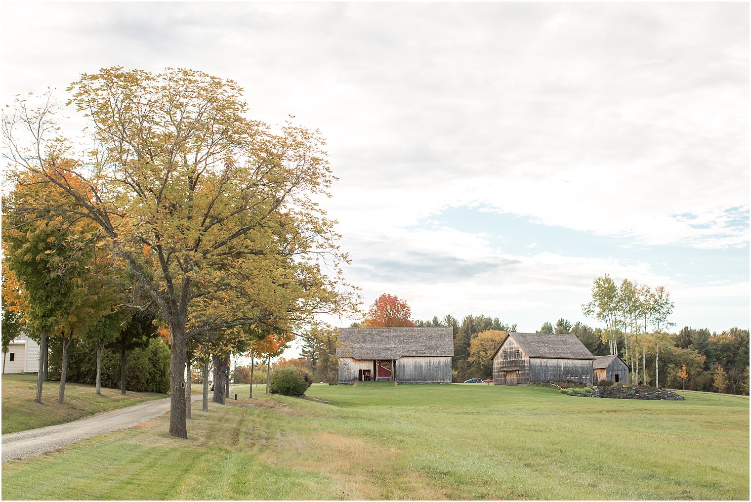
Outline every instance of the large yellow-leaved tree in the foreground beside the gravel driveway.
<path id="1" fill-rule="evenodd" d="M 333 180 L 324 140 L 247 118 L 240 86 L 200 71 L 103 68 L 68 92 L 95 148 L 66 148 L 53 103 L 20 99 L 3 125 L 14 176 L 74 198 L 153 301 L 170 331 L 169 432 L 187 437 L 189 338 L 356 308 L 334 222 L 316 202 Z M 90 195 L 71 189 L 68 173 Z M 53 207 L 14 210 L 35 218 Z"/>

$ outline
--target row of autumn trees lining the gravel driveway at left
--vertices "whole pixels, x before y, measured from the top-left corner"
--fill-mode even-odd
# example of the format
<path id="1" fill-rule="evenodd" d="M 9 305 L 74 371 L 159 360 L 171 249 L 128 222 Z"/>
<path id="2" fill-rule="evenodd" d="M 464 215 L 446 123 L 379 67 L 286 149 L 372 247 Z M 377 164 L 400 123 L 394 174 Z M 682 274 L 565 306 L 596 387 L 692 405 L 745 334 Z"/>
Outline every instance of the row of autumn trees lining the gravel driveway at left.
<path id="1" fill-rule="evenodd" d="M 223 402 L 232 353 L 273 357 L 319 314 L 357 310 L 317 202 L 334 180 L 324 138 L 250 119 L 237 83 L 201 71 L 102 68 L 66 90 L 85 147 L 51 93 L 2 121 L 3 296 L 39 340 L 38 401 L 50 340 L 64 401 L 72 340 L 96 352 L 99 385 L 104 351 L 146 313 L 170 349 L 169 432 L 187 437 L 194 364 L 207 410 L 210 365 Z"/>

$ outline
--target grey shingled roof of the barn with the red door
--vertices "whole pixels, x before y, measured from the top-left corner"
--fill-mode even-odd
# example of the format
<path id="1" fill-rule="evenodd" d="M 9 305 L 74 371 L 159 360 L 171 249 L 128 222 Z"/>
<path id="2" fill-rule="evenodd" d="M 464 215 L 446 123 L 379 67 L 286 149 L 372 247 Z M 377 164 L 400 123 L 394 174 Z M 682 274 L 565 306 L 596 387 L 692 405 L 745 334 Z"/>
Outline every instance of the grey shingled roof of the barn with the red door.
<path id="1" fill-rule="evenodd" d="M 448 328 L 339 328 L 339 357 L 398 359 L 453 356 L 454 330 Z"/>

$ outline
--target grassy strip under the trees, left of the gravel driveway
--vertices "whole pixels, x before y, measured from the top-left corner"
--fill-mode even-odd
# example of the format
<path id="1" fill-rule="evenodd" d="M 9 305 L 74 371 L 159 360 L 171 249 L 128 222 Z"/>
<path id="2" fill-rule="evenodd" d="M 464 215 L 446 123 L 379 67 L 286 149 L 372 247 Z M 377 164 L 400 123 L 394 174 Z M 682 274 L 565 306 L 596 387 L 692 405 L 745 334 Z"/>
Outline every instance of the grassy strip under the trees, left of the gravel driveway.
<path id="1" fill-rule="evenodd" d="M 65 384 L 65 403 L 57 401 L 59 382 L 45 382 L 42 386 L 42 403 L 37 396 L 36 375 L 2 376 L 2 434 L 26 431 L 47 425 L 64 424 L 105 411 L 116 410 L 152 399 L 167 398 L 154 392 L 120 394 L 120 389 L 101 389 L 78 383 Z"/>

